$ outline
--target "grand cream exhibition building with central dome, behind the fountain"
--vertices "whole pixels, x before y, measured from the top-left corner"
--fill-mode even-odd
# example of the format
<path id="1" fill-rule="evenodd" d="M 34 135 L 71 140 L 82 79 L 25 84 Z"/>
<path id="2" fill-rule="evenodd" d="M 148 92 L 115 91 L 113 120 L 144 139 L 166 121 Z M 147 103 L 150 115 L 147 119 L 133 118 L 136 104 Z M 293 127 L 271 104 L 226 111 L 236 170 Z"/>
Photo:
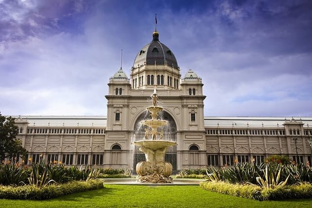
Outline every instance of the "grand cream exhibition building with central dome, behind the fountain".
<path id="1" fill-rule="evenodd" d="M 161 136 L 177 143 L 165 154 L 174 172 L 220 168 L 234 161 L 264 162 L 274 154 L 311 164 L 311 117 L 204 116 L 204 80 L 196 70 L 181 75 L 173 51 L 158 38 L 155 31 L 138 51 L 130 75 L 120 68 L 107 78 L 107 116 L 16 116 L 28 163 L 43 158 L 65 165 L 135 169 L 144 153 L 133 142 L 150 139 L 141 121 L 150 116 L 146 108 L 157 92 L 160 119 L 168 121 Z"/>

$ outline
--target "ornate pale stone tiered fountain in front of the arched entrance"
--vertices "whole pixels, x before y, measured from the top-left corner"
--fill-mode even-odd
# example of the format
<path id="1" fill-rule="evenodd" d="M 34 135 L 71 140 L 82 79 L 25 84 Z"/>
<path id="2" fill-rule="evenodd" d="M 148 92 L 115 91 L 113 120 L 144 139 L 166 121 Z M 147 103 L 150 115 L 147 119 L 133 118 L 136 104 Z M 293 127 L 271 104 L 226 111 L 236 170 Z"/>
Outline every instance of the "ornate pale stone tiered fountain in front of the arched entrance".
<path id="1" fill-rule="evenodd" d="M 170 177 L 172 165 L 165 162 L 165 154 L 169 147 L 176 146 L 176 142 L 164 140 L 164 131 L 162 127 L 168 124 L 168 121 L 157 119 L 158 113 L 162 107 L 157 106 L 158 95 L 156 89 L 153 98 L 153 106 L 147 107 L 151 113 L 152 119 L 141 121 L 145 128 L 143 140 L 136 141 L 134 144 L 139 146 L 139 150 L 145 153 L 146 161 L 137 163 L 137 181 L 141 183 L 172 183 Z M 149 140 L 151 138 L 151 140 Z"/>

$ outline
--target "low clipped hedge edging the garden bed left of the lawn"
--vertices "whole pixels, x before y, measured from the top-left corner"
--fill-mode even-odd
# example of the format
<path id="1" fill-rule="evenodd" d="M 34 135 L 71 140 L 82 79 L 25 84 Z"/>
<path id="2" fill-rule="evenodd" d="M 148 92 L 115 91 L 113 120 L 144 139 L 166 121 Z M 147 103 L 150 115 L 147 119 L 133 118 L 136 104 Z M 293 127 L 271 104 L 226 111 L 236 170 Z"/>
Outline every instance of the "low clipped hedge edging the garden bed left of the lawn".
<path id="1" fill-rule="evenodd" d="M 26 185 L 20 187 L 0 186 L 1 199 L 51 199 L 76 192 L 101 189 L 102 180 L 71 181 L 66 184 L 52 184 L 45 187 Z"/>

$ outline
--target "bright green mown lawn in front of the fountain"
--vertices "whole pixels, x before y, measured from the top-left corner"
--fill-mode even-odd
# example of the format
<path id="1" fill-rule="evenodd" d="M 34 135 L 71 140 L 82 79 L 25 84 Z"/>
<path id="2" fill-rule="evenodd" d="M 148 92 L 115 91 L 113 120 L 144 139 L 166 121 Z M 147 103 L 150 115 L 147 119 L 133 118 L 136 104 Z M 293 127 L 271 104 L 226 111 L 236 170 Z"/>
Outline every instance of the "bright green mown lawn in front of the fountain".
<path id="1" fill-rule="evenodd" d="M 312 199 L 263 201 L 245 199 L 199 188 L 199 186 L 104 185 L 104 189 L 62 196 L 52 200 L 0 200 L 2 208 L 310 208 Z"/>

